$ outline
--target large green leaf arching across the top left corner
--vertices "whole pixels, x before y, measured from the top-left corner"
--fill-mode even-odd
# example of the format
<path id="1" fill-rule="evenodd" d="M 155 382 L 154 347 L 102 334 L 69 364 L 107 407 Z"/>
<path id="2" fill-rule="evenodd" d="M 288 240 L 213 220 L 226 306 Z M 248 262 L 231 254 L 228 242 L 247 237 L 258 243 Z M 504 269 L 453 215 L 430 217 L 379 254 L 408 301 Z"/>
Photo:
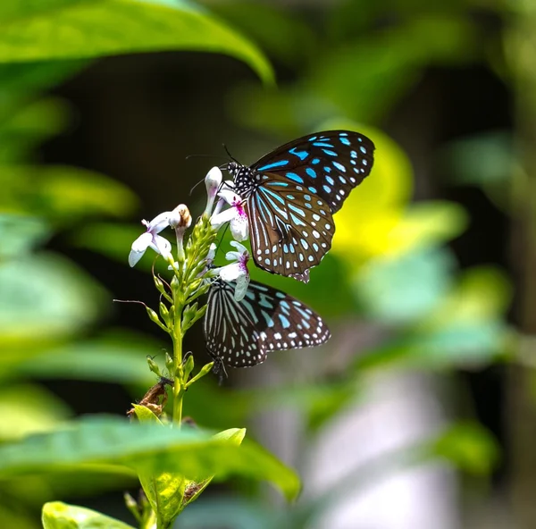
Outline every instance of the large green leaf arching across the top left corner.
<path id="1" fill-rule="evenodd" d="M 7 0 L 0 21 L 1 63 L 188 50 L 231 55 L 272 80 L 251 42 L 183 0 Z"/>

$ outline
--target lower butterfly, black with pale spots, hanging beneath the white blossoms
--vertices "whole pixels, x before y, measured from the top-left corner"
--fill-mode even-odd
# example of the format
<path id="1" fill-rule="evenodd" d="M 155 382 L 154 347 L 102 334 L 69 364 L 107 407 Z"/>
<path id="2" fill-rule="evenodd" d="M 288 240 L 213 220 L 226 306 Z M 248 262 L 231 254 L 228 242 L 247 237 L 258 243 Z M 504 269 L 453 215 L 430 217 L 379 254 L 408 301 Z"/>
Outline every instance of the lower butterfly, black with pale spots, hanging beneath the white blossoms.
<path id="1" fill-rule="evenodd" d="M 319 315 L 281 290 L 251 281 L 241 301 L 234 290 L 233 281 L 217 278 L 208 293 L 204 332 L 216 365 L 251 367 L 271 351 L 313 347 L 331 337 Z"/>

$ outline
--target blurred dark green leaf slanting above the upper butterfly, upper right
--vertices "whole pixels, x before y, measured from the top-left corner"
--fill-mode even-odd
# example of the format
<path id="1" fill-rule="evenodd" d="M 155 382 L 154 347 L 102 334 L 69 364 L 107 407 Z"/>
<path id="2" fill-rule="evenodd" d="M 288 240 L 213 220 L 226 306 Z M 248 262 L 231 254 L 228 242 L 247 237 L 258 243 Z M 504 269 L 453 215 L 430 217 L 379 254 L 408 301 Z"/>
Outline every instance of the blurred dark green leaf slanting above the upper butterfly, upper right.
<path id="1" fill-rule="evenodd" d="M 308 87 L 345 115 L 378 122 L 421 79 L 427 65 L 468 61 L 473 38 L 474 26 L 464 18 L 420 13 L 358 42 L 326 46 Z"/>

